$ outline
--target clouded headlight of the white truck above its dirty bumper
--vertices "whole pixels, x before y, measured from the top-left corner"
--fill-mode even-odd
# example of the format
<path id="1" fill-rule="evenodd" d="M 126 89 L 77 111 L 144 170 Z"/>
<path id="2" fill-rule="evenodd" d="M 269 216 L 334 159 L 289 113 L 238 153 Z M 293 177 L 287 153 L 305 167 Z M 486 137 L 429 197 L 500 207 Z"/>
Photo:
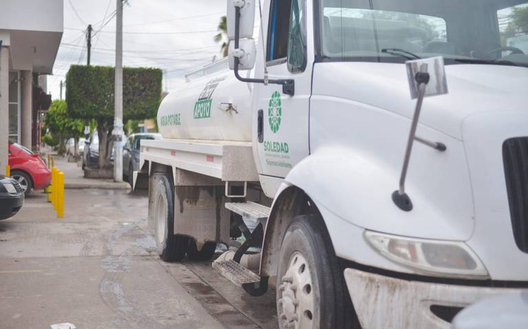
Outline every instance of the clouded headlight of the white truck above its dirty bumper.
<path id="1" fill-rule="evenodd" d="M 489 277 L 484 264 L 464 242 L 392 236 L 365 231 L 365 239 L 386 258 L 441 277 Z"/>

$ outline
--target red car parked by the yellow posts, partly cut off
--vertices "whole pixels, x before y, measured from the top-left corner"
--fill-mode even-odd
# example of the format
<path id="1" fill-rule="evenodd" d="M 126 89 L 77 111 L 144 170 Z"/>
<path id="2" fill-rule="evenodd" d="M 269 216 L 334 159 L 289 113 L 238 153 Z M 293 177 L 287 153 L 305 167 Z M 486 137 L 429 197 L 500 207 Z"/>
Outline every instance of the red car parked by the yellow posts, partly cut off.
<path id="1" fill-rule="evenodd" d="M 52 181 L 52 172 L 39 155 L 20 144 L 9 143 L 9 166 L 11 178 L 20 183 L 26 196 L 32 189 L 43 189 Z"/>

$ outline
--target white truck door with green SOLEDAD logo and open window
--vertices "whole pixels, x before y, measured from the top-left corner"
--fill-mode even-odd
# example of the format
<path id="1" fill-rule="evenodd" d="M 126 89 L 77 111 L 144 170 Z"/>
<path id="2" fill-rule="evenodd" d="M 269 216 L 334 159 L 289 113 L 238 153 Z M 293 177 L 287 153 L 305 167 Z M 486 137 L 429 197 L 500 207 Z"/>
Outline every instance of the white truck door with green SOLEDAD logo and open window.
<path id="1" fill-rule="evenodd" d="M 256 120 L 254 141 L 261 166 L 259 173 L 286 177 L 288 172 L 309 155 L 309 100 L 313 50 L 307 47 L 306 0 L 271 0 L 267 17 L 265 63 L 270 79 L 293 79 L 294 95 L 283 93 L 279 84 L 254 85 Z M 265 13 L 263 21 L 266 21 Z M 264 23 L 263 22 L 263 23 Z M 259 45 L 259 48 L 262 46 Z M 263 52 L 263 49 L 259 49 Z M 262 57 L 259 56 L 259 58 Z M 260 138 L 259 138 L 260 137 Z"/>

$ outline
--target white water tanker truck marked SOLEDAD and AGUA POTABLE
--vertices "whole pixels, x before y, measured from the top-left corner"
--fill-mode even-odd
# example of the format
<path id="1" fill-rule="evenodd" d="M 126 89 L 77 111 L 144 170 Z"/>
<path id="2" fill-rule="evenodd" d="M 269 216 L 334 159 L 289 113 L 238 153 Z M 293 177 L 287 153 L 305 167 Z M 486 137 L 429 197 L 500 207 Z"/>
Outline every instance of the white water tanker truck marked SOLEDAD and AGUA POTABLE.
<path id="1" fill-rule="evenodd" d="M 159 256 L 243 234 L 213 267 L 275 286 L 280 328 L 448 328 L 528 288 L 527 0 L 255 2 L 142 140 Z"/>

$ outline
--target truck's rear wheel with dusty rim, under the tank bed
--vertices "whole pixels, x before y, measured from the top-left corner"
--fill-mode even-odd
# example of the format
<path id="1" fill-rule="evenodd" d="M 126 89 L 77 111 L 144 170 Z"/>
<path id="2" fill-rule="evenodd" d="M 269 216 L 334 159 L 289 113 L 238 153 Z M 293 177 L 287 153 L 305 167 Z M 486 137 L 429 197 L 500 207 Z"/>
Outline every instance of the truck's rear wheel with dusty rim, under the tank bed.
<path id="1" fill-rule="evenodd" d="M 174 188 L 170 177 L 163 176 L 154 192 L 155 240 L 159 258 L 165 262 L 185 257 L 189 238 L 174 232 Z"/>

